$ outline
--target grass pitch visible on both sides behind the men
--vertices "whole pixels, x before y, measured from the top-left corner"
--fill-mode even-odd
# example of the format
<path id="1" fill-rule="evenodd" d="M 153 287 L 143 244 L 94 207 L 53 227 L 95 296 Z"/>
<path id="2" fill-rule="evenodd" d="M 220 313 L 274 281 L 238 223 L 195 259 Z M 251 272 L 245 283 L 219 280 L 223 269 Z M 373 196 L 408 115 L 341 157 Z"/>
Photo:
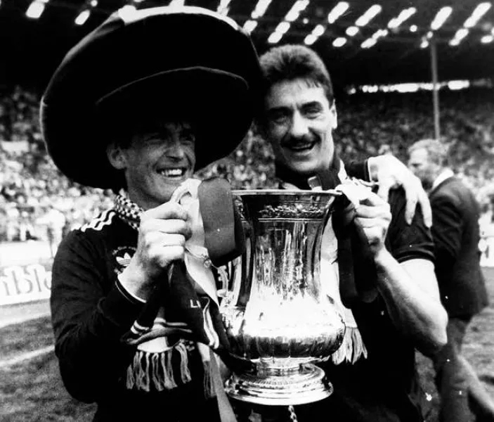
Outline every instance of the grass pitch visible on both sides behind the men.
<path id="1" fill-rule="evenodd" d="M 494 398 L 494 268 L 486 268 L 490 306 L 472 320 L 463 354 Z M 53 344 L 48 317 L 0 328 L 0 360 Z M 427 422 L 437 421 L 438 395 L 429 359 L 417 353 L 419 371 L 430 398 Z M 2 422 L 90 422 L 96 407 L 72 399 L 60 380 L 53 352 L 0 367 Z"/>

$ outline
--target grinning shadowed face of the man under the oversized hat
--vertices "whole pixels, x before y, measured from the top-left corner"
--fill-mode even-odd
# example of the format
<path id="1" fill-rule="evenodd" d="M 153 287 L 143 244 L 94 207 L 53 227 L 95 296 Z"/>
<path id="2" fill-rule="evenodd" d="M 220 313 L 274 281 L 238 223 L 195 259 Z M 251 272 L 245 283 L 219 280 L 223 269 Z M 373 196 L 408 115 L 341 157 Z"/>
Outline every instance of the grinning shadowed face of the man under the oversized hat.
<path id="1" fill-rule="evenodd" d="M 188 122 L 146 125 L 128 147 L 117 147 L 117 162 L 124 170 L 129 198 L 145 210 L 157 207 L 193 175 L 193 128 Z"/>

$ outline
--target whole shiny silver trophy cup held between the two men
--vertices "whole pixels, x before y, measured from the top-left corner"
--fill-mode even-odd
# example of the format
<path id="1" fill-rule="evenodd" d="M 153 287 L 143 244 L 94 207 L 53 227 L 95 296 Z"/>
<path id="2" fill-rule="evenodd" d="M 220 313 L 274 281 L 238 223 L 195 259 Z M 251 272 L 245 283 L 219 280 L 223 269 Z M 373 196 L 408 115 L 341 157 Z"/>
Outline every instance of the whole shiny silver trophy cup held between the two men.
<path id="1" fill-rule="evenodd" d="M 320 285 L 320 244 L 334 191 L 233 191 L 250 232 L 220 311 L 230 354 L 245 362 L 230 397 L 304 404 L 332 393 L 317 362 L 341 345 L 345 325 Z M 239 367 L 244 367 L 239 365 Z"/>

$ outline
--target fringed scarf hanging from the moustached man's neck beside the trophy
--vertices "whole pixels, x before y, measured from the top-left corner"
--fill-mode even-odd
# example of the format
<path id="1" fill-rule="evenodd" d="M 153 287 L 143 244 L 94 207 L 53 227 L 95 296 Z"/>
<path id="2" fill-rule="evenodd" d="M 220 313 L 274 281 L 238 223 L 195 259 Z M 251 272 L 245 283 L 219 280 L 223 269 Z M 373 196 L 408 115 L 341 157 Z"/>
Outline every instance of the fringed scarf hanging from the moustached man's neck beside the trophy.
<path id="1" fill-rule="evenodd" d="M 312 178 L 303 177 L 280 163 L 276 165 L 276 177 L 280 188 L 314 188 Z M 349 179 L 336 154 L 327 172 L 318 174 L 318 184 L 323 190 L 336 188 L 344 193 L 335 201 L 334 212 L 323 232 L 320 275 L 323 291 L 334 300 L 346 324 L 343 343 L 330 359 L 334 364 L 354 364 L 358 359 L 366 358 L 368 352 L 351 307 L 359 300 L 373 300 L 377 290 L 375 264 L 361 229 L 353 224 L 354 206 L 346 194 L 350 191 L 358 195 L 359 189 L 367 187 Z"/>

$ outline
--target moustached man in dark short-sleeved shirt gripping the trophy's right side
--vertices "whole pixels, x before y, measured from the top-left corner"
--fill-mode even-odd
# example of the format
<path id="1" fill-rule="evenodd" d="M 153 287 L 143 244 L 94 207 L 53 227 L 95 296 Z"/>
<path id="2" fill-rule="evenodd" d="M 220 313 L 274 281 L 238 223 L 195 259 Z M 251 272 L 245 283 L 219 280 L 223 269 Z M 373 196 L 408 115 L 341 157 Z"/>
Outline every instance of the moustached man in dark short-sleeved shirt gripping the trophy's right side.
<path id="1" fill-rule="evenodd" d="M 321 364 L 334 392 L 295 413 L 299 421 L 422 422 L 415 349 L 431 356 L 446 343 L 431 233 L 420 212 L 406 224 L 402 190 L 386 203 L 347 178 L 333 139 L 330 75 L 318 55 L 286 45 L 260 60 L 266 91 L 257 122 L 273 146 L 280 187 L 308 189 L 316 179 L 353 205 L 349 213 L 349 201 L 340 203 L 321 245 L 323 288 L 346 323 L 342 347 Z"/>

